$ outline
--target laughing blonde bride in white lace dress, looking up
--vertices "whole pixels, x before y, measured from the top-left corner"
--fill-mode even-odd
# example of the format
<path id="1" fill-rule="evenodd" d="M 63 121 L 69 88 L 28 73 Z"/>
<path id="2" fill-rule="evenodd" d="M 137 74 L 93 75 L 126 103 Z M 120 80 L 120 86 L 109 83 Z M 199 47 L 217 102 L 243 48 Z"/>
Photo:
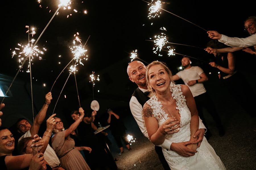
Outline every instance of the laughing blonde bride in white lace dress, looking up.
<path id="1" fill-rule="evenodd" d="M 189 88 L 183 84 L 174 84 L 171 71 L 159 61 L 153 61 L 147 66 L 146 80 L 148 89 L 156 92 L 143 107 L 150 141 L 155 145 L 161 145 L 166 138 L 173 142 L 172 145 L 183 143 L 197 151 L 192 156 L 179 155 L 175 151 L 162 149 L 170 168 L 172 170 L 226 169 L 205 137 L 201 145 L 193 143 L 197 140 L 193 134 L 198 129 L 199 117 Z M 170 134 L 171 131 L 177 133 Z"/>

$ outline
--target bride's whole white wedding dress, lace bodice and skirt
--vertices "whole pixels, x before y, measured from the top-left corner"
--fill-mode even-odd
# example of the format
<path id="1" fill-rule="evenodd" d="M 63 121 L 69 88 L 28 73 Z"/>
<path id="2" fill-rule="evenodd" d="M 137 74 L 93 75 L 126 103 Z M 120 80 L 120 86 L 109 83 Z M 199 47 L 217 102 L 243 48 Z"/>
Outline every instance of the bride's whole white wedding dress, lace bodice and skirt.
<path id="1" fill-rule="evenodd" d="M 170 90 L 172 97 L 176 99 L 176 109 L 179 110 L 180 130 L 177 133 L 166 135 L 166 139 L 170 139 L 174 143 L 189 141 L 191 113 L 187 107 L 185 96 L 182 95 L 180 85 L 170 86 Z M 154 117 L 158 120 L 159 126 L 168 119 L 168 114 L 163 111 L 161 102 L 158 101 L 155 95 L 147 101 L 147 104 L 153 110 Z M 183 157 L 175 151 L 162 150 L 172 170 L 226 169 L 205 137 L 203 137 L 203 141 L 200 147 L 197 148 L 197 153 L 194 156 Z"/>

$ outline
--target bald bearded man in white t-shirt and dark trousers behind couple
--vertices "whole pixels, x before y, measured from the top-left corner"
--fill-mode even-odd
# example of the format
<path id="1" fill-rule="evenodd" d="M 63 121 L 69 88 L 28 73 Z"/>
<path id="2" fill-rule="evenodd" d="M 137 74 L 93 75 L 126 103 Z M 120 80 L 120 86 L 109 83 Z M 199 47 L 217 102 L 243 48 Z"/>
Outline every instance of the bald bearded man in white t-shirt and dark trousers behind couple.
<path id="1" fill-rule="evenodd" d="M 213 120 L 216 122 L 216 126 L 219 130 L 219 135 L 223 136 L 225 134 L 225 130 L 222 126 L 220 116 L 218 115 L 218 112 L 216 111 L 213 101 L 206 92 L 205 86 L 203 84 L 203 82 L 206 82 L 208 80 L 207 75 L 200 67 L 191 66 L 191 60 L 189 59 L 189 57 L 182 58 L 181 64 L 184 70 L 179 71 L 176 75 L 173 75 L 173 80 L 183 80 L 185 85 L 189 87 L 195 99 L 198 115 L 203 120 L 203 123 L 205 124 L 206 128 L 208 129 L 203 115 L 203 107 L 210 113 Z M 208 133 L 206 133 L 205 136 L 208 138 L 210 137 L 210 135 L 211 133 L 208 129 Z"/>

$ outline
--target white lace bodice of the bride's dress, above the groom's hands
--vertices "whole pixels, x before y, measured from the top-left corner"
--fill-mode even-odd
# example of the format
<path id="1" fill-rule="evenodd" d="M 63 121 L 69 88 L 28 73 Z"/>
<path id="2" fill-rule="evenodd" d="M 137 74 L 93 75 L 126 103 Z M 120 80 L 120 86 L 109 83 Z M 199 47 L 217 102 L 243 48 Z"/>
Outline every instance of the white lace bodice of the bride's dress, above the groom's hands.
<path id="1" fill-rule="evenodd" d="M 181 86 L 170 86 L 172 97 L 176 100 L 176 109 L 180 115 L 180 130 L 177 133 L 166 135 L 166 139 L 172 142 L 188 141 L 190 138 L 190 120 L 191 113 L 187 107 L 185 96 L 181 92 Z M 158 126 L 161 126 L 168 118 L 168 114 L 162 108 L 162 104 L 154 95 L 146 102 L 152 109 L 154 117 L 158 120 Z M 169 116 L 170 117 L 170 116 Z M 188 140 L 187 140 L 188 139 Z"/>

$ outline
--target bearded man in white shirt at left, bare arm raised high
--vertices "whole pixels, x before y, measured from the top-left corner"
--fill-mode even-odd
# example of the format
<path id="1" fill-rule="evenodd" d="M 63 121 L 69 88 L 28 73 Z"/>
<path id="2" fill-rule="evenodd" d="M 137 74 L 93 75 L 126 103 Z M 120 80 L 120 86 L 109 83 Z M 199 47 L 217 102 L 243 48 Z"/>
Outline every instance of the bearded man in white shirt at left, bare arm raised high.
<path id="1" fill-rule="evenodd" d="M 31 137 L 38 133 L 39 128 L 45 119 L 46 111 L 49 107 L 49 104 L 51 103 L 51 100 L 52 100 L 52 96 L 51 96 L 51 92 L 49 92 L 45 95 L 45 103 L 42 109 L 40 110 L 40 112 L 36 115 L 34 119 L 34 124 L 32 124 L 32 126 L 28 122 L 28 120 L 24 118 L 20 118 L 17 121 L 16 123 L 17 131 L 23 134 L 18 140 L 18 142 L 20 142 L 25 137 Z M 44 152 L 44 159 L 51 166 L 53 170 L 64 170 L 60 166 L 60 161 L 55 151 L 53 150 L 53 148 L 51 148 L 49 144 Z"/>

